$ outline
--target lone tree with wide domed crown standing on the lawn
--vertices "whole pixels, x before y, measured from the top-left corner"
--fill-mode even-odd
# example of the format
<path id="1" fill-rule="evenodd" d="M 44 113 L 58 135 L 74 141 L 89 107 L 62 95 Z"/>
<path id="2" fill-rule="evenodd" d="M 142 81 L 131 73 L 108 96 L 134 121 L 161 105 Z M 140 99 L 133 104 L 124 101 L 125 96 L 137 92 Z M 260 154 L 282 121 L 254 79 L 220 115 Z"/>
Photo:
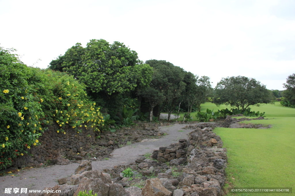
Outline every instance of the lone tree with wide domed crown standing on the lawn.
<path id="1" fill-rule="evenodd" d="M 250 105 L 260 106 L 262 103 L 272 103 L 273 95 L 265 85 L 254 78 L 232 76 L 222 78 L 215 87 L 213 103 L 217 106 L 225 104 L 242 111 Z"/>

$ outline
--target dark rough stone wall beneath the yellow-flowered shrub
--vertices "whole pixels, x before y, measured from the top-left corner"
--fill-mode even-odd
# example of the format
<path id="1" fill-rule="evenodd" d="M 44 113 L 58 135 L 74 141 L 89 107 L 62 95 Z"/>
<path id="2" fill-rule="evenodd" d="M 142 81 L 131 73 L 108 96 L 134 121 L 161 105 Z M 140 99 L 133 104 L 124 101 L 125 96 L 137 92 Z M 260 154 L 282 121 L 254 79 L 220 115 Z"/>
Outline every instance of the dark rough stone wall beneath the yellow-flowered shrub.
<path id="1" fill-rule="evenodd" d="M 27 165 L 40 167 L 40 163 L 46 164 L 48 160 L 58 157 L 73 156 L 85 151 L 95 142 L 95 132 L 83 128 L 80 133 L 73 128 L 66 127 L 65 133 L 57 133 L 60 127 L 57 124 L 50 125 L 40 138 L 41 145 L 31 146 L 28 154 L 19 156 L 13 160 L 13 165 L 6 170 L 15 170 Z M 42 165 L 42 164 L 41 164 Z"/>

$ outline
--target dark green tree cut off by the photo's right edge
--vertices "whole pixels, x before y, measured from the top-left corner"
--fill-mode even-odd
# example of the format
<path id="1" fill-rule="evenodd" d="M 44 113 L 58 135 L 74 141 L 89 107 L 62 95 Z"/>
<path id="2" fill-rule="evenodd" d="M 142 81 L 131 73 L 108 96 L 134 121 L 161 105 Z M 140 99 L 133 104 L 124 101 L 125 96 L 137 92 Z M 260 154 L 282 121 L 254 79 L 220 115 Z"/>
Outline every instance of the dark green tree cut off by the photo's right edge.
<path id="1" fill-rule="evenodd" d="M 288 76 L 286 83 L 283 84 L 285 91 L 283 91 L 284 100 L 282 105 L 295 108 L 295 73 Z"/>

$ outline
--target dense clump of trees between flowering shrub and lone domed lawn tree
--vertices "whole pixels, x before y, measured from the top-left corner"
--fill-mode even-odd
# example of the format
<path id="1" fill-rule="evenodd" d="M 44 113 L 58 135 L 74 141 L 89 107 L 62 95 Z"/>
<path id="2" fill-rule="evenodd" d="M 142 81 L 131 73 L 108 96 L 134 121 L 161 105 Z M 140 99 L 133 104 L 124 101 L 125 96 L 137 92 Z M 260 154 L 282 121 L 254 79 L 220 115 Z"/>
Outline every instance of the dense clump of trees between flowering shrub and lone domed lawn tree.
<path id="1" fill-rule="evenodd" d="M 188 113 L 212 92 L 207 76 L 196 76 L 170 62 L 138 59 L 137 53 L 120 42 L 90 40 L 69 48 L 50 62 L 50 69 L 73 75 L 86 85 L 88 95 L 114 118 L 122 107 L 138 108 L 138 113 L 159 117 L 162 111 L 170 120 L 181 105 Z"/>

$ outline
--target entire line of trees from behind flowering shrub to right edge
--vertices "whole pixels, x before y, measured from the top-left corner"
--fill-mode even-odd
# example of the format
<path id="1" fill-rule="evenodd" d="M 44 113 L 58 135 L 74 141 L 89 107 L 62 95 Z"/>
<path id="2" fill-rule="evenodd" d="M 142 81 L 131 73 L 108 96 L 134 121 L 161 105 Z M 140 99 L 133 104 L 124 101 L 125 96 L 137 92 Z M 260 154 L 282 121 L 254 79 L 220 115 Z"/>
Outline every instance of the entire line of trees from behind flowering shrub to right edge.
<path id="1" fill-rule="evenodd" d="M 123 43 L 109 44 L 103 39 L 90 40 L 85 48 L 77 43 L 51 61 L 49 68 L 84 83 L 87 94 L 112 119 L 125 107 L 138 109 L 138 115 L 147 114 L 150 121 L 165 111 L 170 120 L 173 112 L 189 115 L 200 111 L 201 103 L 208 100 L 244 111 L 250 105 L 272 103 L 282 96 L 289 100 L 293 92 L 268 90 L 244 76 L 222 78 L 213 89 L 207 76 L 199 77 L 163 60 L 142 62 Z M 285 86 L 291 89 L 289 83 Z"/>

